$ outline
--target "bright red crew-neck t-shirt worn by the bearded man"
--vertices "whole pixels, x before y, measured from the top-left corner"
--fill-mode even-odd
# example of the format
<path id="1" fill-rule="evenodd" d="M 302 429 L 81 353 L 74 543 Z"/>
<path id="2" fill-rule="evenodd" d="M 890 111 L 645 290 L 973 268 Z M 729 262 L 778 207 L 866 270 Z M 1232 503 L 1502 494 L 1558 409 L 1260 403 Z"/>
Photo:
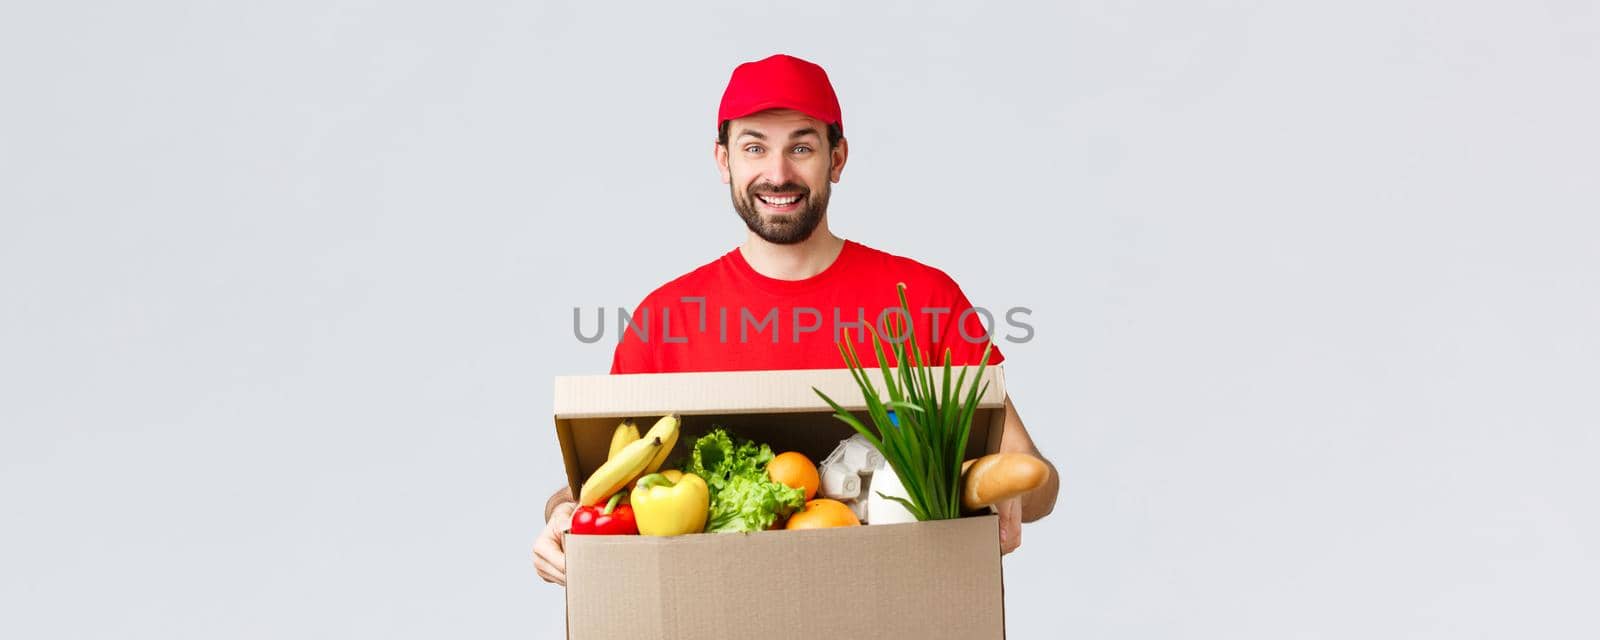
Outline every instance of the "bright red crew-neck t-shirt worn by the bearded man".
<path id="1" fill-rule="evenodd" d="M 896 283 L 906 283 L 917 342 L 930 363 L 978 365 L 994 318 L 966 301 L 942 270 L 856 242 L 805 280 L 757 274 L 734 248 L 672 280 L 622 320 L 611 373 L 843 368 L 848 338 L 862 365 L 877 366 L 870 325 L 880 336 L 904 322 Z M 893 366 L 893 354 L 885 344 Z M 989 363 L 1003 362 L 1000 349 Z"/>

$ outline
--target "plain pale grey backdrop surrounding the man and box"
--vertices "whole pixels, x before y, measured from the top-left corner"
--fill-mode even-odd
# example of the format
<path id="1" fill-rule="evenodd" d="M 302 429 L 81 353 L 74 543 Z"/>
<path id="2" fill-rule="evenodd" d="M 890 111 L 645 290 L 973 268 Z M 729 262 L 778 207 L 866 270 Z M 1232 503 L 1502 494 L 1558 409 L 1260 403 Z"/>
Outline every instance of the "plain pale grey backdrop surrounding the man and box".
<path id="1" fill-rule="evenodd" d="M 8 3 L 0 635 L 557 637 L 570 309 L 739 242 L 776 51 L 1035 310 L 1013 637 L 1600 634 L 1597 5 L 971 5 Z"/>

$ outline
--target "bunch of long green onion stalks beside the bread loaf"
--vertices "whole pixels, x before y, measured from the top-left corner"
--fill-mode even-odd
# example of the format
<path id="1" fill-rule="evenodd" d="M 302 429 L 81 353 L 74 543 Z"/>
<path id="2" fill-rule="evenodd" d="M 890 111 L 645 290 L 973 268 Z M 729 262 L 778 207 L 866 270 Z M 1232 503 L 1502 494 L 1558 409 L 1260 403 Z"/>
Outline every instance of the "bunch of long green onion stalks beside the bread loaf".
<path id="1" fill-rule="evenodd" d="M 856 357 L 856 347 L 850 342 L 848 331 L 845 333 L 846 339 L 838 346 L 838 354 L 845 357 L 845 366 L 850 368 L 856 386 L 861 387 L 861 397 L 866 400 L 867 418 L 872 419 L 874 429 L 862 424 L 827 394 L 816 387 L 811 390 L 834 408 L 834 418 L 850 424 L 872 446 L 877 446 L 883 459 L 899 475 L 901 483 L 906 485 L 906 494 L 910 499 L 878 493 L 880 496 L 901 502 L 917 520 L 957 518 L 962 515 L 962 458 L 966 456 L 966 438 L 973 432 L 978 398 L 989 390 L 989 382 L 979 387 L 978 381 L 982 379 L 984 368 L 989 366 L 989 350 L 994 349 L 994 342 L 984 346 L 978 374 L 973 376 L 970 387 L 966 386 L 965 365 L 960 376 L 955 378 L 955 384 L 950 384 L 950 350 L 946 349 L 944 384 L 936 387 L 934 374 L 939 370 L 926 362 L 917 344 L 917 331 L 909 325 L 912 315 L 910 304 L 906 302 L 906 283 L 899 283 L 896 291 L 901 310 L 906 314 L 904 322 L 891 320 L 891 326 L 888 326 L 890 331 L 894 331 L 894 325 L 902 328 L 899 334 L 902 339 L 888 341 L 896 363 L 893 371 L 888 358 L 883 357 L 883 341 L 878 339 L 872 326 L 867 326 L 867 331 L 872 333 L 872 349 L 878 357 L 888 400 L 878 397 L 872 387 L 872 379 L 866 366 L 861 365 L 861 358 Z M 898 426 L 890 418 L 890 411 L 894 411 Z"/>

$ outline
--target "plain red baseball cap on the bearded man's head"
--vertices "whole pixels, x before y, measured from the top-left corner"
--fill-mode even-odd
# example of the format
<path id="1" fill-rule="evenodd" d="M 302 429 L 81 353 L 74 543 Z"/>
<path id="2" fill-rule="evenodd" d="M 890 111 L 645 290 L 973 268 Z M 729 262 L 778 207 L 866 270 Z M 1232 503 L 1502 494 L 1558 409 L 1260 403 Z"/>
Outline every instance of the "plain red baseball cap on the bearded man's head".
<path id="1" fill-rule="evenodd" d="M 838 117 L 838 96 L 827 82 L 827 72 L 795 56 L 779 53 L 738 66 L 733 78 L 728 78 L 728 90 L 722 93 L 717 126 L 768 109 L 794 109 L 845 130 L 845 122 Z"/>

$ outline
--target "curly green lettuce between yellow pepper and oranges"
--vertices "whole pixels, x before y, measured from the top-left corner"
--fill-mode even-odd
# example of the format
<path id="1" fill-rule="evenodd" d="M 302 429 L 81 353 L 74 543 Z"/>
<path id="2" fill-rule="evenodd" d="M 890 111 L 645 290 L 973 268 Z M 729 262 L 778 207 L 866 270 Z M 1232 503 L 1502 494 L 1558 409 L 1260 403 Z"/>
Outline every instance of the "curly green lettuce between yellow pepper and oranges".
<path id="1" fill-rule="evenodd" d="M 805 506 L 805 493 L 766 478 L 773 450 L 734 438 L 722 427 L 694 440 L 688 472 L 710 488 L 706 531 L 763 531 Z"/>

